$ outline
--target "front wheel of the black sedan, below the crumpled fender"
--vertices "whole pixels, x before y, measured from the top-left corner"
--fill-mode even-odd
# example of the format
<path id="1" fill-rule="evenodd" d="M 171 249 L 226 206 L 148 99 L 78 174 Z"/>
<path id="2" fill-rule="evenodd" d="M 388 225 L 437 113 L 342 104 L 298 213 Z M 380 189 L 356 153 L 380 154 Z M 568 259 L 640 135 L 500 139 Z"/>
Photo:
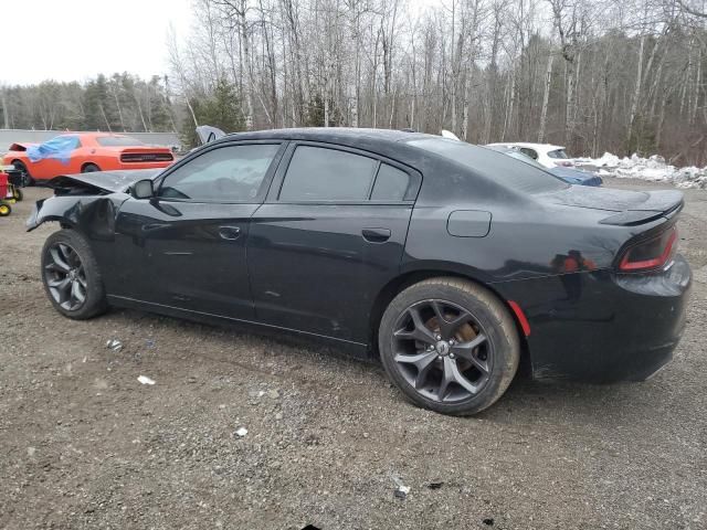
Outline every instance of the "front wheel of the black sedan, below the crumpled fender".
<path id="1" fill-rule="evenodd" d="M 60 230 L 46 239 L 41 275 L 46 296 L 65 317 L 85 320 L 107 310 L 101 269 L 80 232 Z"/>

